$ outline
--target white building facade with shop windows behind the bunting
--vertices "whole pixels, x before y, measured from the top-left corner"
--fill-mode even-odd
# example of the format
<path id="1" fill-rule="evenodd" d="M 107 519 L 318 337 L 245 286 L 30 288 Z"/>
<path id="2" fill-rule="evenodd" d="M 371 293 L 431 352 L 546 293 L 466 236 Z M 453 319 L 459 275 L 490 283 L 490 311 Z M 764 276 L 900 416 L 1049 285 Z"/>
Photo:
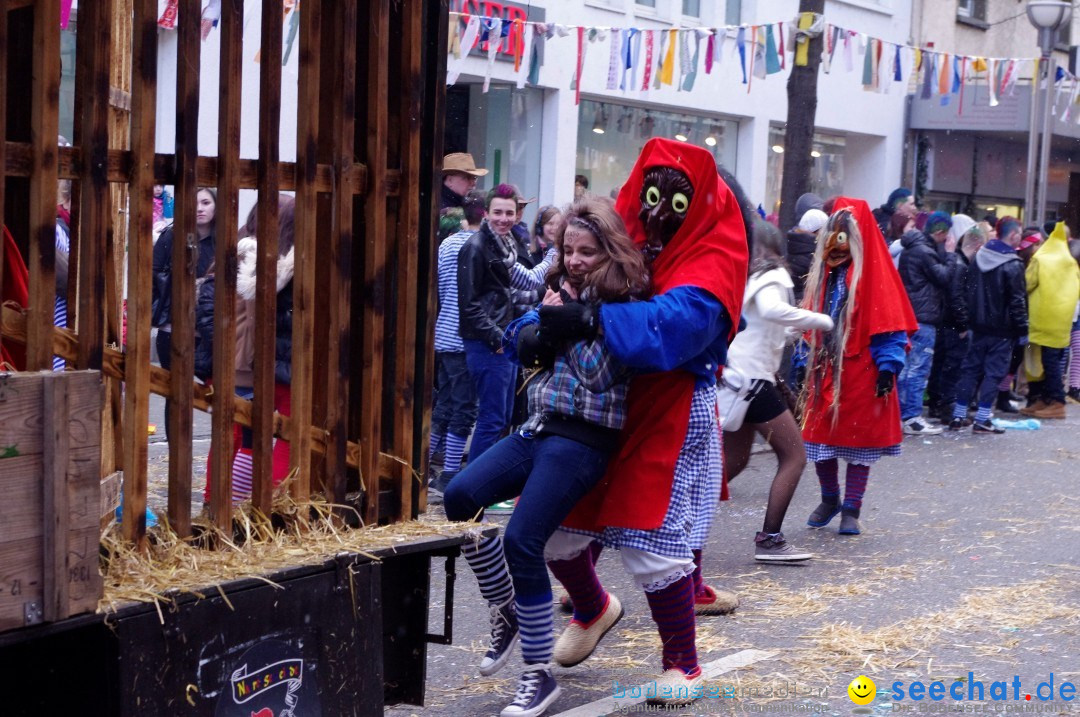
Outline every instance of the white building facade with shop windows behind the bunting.
<path id="1" fill-rule="evenodd" d="M 528 14 L 530 21 L 563 26 L 659 30 L 794 21 L 798 2 L 453 0 L 451 8 L 511 19 Z M 828 0 L 825 17 L 868 37 L 905 43 L 910 33 L 912 2 Z M 459 31 L 456 23 L 450 31 Z M 775 40 L 779 42 L 779 37 Z M 634 89 L 607 90 L 610 42 L 610 36 L 586 40 L 580 104 L 576 104 L 577 92 L 571 86 L 577 64 L 573 30 L 565 37 L 556 32 L 545 41 L 536 84 L 519 90 L 509 54 L 500 53 L 490 64 L 486 54 L 469 55 L 457 68 L 461 70 L 457 82 L 447 87 L 446 151 L 469 151 L 478 166 L 490 171 L 482 188 L 509 181 L 526 197 L 538 198 L 539 205 L 561 205 L 572 198 L 576 175 L 589 179 L 591 191 L 608 195 L 624 180 L 646 139 L 686 137 L 686 141 L 712 151 L 719 164 L 732 171 L 755 203 L 767 212 L 775 211 L 787 119 L 786 83 L 794 54 L 786 55 L 786 69 L 765 79 L 751 76 L 750 84 L 744 84 L 735 31 L 731 30 L 711 72 L 705 72 L 703 59 L 699 62 L 689 91 L 677 89 L 677 69 L 674 84 L 661 89 L 650 82 L 649 89 L 642 91 L 643 70 L 637 69 Z M 903 176 L 907 86 L 896 82 L 890 83 L 888 92 L 864 90 L 859 38 L 851 44 L 853 70 L 847 69 L 842 51 L 838 51 L 831 72 L 819 72 L 812 189 L 823 197 L 841 192 L 862 197 L 876 205 L 900 186 Z M 702 40 L 702 55 L 705 46 Z M 746 44 L 747 73 L 751 46 Z M 659 51 L 657 44 L 657 55 Z M 654 56 L 653 73 L 657 59 Z M 450 65 L 455 65 L 453 57 Z M 486 75 L 490 86 L 484 93 Z M 621 77 L 617 86 L 620 82 Z"/>

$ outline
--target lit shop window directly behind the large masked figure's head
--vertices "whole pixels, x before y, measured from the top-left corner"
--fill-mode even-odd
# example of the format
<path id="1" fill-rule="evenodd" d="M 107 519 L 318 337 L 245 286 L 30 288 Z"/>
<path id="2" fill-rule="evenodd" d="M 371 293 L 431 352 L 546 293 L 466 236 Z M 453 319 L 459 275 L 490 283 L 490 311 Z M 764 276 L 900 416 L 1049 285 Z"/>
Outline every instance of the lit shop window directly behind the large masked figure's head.
<path id="1" fill-rule="evenodd" d="M 630 175 L 642 145 L 652 137 L 704 147 L 717 164 L 734 173 L 738 134 L 739 123 L 732 120 L 582 99 L 575 174 L 589 178 L 594 194 L 613 197 Z"/>

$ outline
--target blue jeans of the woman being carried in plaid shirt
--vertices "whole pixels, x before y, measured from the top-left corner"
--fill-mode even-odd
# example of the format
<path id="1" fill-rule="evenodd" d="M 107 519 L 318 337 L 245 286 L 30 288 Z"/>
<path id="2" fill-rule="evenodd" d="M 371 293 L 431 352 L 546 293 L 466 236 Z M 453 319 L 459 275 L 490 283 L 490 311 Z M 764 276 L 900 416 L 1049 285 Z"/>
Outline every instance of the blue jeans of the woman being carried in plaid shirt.
<path id="1" fill-rule="evenodd" d="M 484 506 L 521 496 L 502 538 L 514 592 L 527 597 L 550 593 L 544 545 L 604 477 L 609 457 L 607 450 L 570 438 L 515 433 L 454 476 L 443 499 L 446 517 L 471 520 Z"/>

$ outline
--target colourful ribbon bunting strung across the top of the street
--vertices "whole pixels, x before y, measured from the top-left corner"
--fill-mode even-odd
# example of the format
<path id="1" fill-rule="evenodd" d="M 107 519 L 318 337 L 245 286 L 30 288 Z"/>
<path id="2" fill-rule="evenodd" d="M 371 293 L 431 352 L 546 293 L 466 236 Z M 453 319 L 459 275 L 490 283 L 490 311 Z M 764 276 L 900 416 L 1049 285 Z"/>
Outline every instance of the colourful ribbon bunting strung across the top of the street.
<path id="1" fill-rule="evenodd" d="M 219 3 L 220 0 L 210 2 L 215 8 Z M 284 3 L 294 12 L 287 18 L 292 22 L 286 30 L 288 39 L 283 64 L 288 62 L 298 29 L 294 8 L 296 0 L 284 0 Z M 60 0 L 62 22 L 63 14 L 70 4 L 71 0 Z M 159 0 L 158 23 L 162 28 L 175 29 L 178 5 L 177 0 Z M 204 11 L 204 30 L 207 21 L 213 23 L 214 15 L 215 11 L 210 14 Z M 755 78 L 765 80 L 789 67 L 794 69 L 808 65 L 810 38 L 820 36 L 821 65 L 826 75 L 833 73 L 838 51 L 843 54 L 847 72 L 854 72 L 858 45 L 858 51 L 862 53 L 861 82 L 866 91 L 887 94 L 894 91 L 894 84 L 900 83 L 902 93 L 910 87 L 922 100 L 937 96 L 943 106 L 954 102 L 955 96 L 957 114 L 962 116 L 966 102 L 969 110 L 972 106 L 999 107 L 1005 98 L 1015 96 L 1018 80 L 1023 78 L 1026 82 L 1028 78 L 1038 78 L 1035 82 L 1045 82 L 1054 91 L 1054 116 L 1061 121 L 1076 121 L 1080 124 L 1080 112 L 1074 111 L 1074 105 L 1080 99 L 1080 78 L 1065 68 L 1057 68 L 1053 78 L 1042 78 L 1039 71 L 1040 60 L 1037 58 L 982 57 L 894 43 L 826 24 L 823 15 L 814 13 L 801 13 L 793 21 L 760 25 L 665 27 L 648 30 L 562 25 L 521 17 L 488 17 L 458 12 L 451 12 L 449 16 L 447 85 L 455 84 L 467 67 L 474 68 L 470 72 L 478 75 L 476 70 L 481 66 L 471 63 L 470 57 L 480 55 L 486 60 L 483 65 L 484 92 L 490 87 L 496 59 L 509 60 L 508 65 L 513 65 L 512 72 L 500 71 L 500 77 L 509 76 L 518 89 L 526 84 L 538 84 L 541 75 L 540 58 L 543 56 L 545 42 L 552 39 L 557 41 L 573 33 L 577 55 L 570 87 L 575 93 L 575 104 L 581 102 L 589 45 L 602 42 L 610 43 L 607 80 L 604 84 L 608 92 L 617 89 L 623 92 L 648 92 L 650 89 L 660 90 L 664 85 L 674 86 L 676 92 L 692 92 L 702 64 L 704 73 L 713 75 L 714 68 L 719 67 L 723 62 L 726 41 L 729 37 L 733 38 L 731 55 L 732 58 L 735 54 L 739 56 L 739 71 L 734 77 L 746 85 L 746 92 L 750 93 Z M 747 52 L 751 53 L 748 58 Z M 791 63 L 787 60 L 788 52 L 792 53 Z M 591 77 L 598 80 L 599 76 L 597 72 Z M 707 83 L 715 86 L 712 82 L 710 80 Z M 980 90 L 983 83 L 987 87 L 985 100 Z M 966 97 L 969 93 L 973 94 Z"/>

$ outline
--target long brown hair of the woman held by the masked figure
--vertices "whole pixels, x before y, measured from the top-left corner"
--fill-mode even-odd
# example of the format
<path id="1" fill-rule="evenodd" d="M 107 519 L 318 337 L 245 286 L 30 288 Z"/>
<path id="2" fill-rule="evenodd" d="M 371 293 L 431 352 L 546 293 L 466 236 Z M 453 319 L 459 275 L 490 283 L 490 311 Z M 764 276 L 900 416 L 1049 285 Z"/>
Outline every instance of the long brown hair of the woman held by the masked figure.
<path id="1" fill-rule="evenodd" d="M 615 211 L 615 202 L 603 197 L 582 197 L 569 206 L 563 218 L 563 227 L 555 236 L 558 259 L 548 272 L 549 286 L 558 290 L 559 280 L 569 274 L 563 263 L 563 236 L 566 228 L 573 226 L 593 234 L 604 255 L 599 266 L 585 278 L 582 290 L 592 289 L 600 301 L 626 301 L 648 293 L 645 258 L 626 233 L 626 226 Z"/>

